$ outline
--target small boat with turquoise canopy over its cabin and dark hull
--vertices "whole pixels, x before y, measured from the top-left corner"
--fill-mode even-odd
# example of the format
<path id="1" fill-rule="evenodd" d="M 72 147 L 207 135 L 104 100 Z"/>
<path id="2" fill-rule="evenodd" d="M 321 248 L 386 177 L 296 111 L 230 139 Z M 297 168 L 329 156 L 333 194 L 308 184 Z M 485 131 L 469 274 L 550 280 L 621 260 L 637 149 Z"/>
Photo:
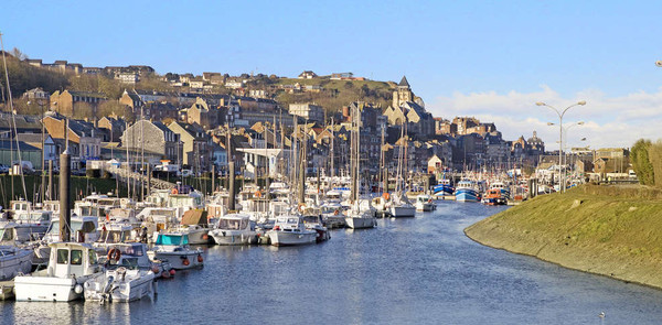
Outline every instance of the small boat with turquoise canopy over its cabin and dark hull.
<path id="1" fill-rule="evenodd" d="M 159 234 L 154 247 L 148 251 L 152 260 L 170 262 L 175 270 L 202 267 L 202 248 L 191 249 L 189 236 L 182 232 Z"/>

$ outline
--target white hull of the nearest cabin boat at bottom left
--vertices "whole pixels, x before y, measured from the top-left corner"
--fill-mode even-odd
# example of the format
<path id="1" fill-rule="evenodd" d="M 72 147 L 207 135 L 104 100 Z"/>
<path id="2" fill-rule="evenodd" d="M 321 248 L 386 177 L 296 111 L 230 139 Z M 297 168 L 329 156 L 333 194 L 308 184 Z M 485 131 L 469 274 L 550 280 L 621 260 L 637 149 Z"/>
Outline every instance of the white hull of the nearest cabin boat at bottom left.
<path id="1" fill-rule="evenodd" d="M 83 283 L 86 280 L 87 278 L 17 277 L 14 292 L 17 301 L 68 302 L 83 297 Z M 76 290 L 76 285 L 81 288 Z"/>

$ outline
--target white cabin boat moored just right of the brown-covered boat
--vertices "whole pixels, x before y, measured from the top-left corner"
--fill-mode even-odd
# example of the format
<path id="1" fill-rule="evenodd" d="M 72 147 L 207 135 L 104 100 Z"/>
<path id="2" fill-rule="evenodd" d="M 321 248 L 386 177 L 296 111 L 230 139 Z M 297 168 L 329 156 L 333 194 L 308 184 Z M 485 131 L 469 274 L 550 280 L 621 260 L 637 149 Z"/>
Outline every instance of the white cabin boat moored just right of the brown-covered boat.
<path id="1" fill-rule="evenodd" d="M 255 223 L 246 214 L 229 214 L 218 218 L 210 236 L 217 245 L 249 245 L 257 242 Z"/>

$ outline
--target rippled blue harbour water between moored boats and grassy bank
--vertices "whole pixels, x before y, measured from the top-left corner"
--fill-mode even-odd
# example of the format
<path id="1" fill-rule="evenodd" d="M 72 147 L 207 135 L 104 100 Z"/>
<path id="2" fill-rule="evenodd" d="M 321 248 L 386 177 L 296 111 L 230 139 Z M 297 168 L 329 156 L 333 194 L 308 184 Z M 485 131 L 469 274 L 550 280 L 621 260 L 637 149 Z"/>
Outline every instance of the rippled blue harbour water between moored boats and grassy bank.
<path id="1" fill-rule="evenodd" d="M 0 303 L 3 324 L 662 324 L 662 291 L 483 247 L 462 229 L 503 207 L 335 230 L 307 247 L 210 247 L 202 270 L 130 304 Z M 606 313 L 599 318 L 600 312 Z"/>

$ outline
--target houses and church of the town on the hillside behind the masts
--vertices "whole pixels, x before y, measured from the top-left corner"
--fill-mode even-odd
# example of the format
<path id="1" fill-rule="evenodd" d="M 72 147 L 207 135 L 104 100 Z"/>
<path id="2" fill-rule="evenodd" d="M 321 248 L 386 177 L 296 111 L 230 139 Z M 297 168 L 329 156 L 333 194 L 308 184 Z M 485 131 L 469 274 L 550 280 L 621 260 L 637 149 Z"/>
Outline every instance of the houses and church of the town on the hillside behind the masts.
<path id="1" fill-rule="evenodd" d="M 558 151 L 546 152 L 545 143 L 536 131 L 527 137 L 508 140 L 496 126 L 474 117 L 435 117 L 426 110 L 405 76 L 401 82 L 388 83 L 391 98 L 387 107 L 381 102 L 348 101 L 340 109 L 323 107 L 314 101 L 284 104 L 275 94 L 323 93 L 320 84 L 337 80 L 351 85 L 366 80 L 352 73 L 333 73 L 318 76 L 305 71 L 293 84 L 264 85 L 257 83 L 264 75 L 236 77 L 221 73 L 171 74 L 159 76 L 171 91 L 138 89 L 141 78 L 156 76 L 146 65 L 84 67 L 81 64 L 55 61 L 44 64 L 41 59 L 25 58 L 25 63 L 40 69 L 71 75 L 107 75 L 122 87 L 118 99 L 104 93 L 74 89 L 55 90 L 50 94 L 41 88 L 29 89 L 23 98 L 36 105 L 40 116 L 17 117 L 14 134 L 7 118 L 0 123 L 3 153 L 0 163 L 10 165 L 9 139 L 15 139 L 24 152 L 23 160 L 41 170 L 40 152 L 44 162 L 53 161 L 68 144 L 74 153 L 74 170 L 95 169 L 94 161 L 126 159 L 140 153 L 142 162 L 156 167 L 168 161 L 196 173 L 227 169 L 227 136 L 231 134 L 232 159 L 246 177 L 256 177 L 278 166 L 266 162 L 281 161 L 289 156 L 291 139 L 303 139 L 309 171 L 321 169 L 327 174 L 339 174 L 348 167 L 351 112 L 361 116 L 360 150 L 363 169 L 374 174 L 380 164 L 395 170 L 398 155 L 406 153 L 406 170 L 410 173 L 439 175 L 444 171 L 504 172 L 517 169 L 532 173 L 548 174 L 558 170 Z M 277 78 L 271 76 L 271 79 Z M 319 80 L 317 85 L 305 82 Z M 365 87 L 365 86 L 364 86 Z M 338 90 L 335 90 L 338 91 Z M 109 113 L 100 111 L 104 104 L 120 107 Z M 107 113 L 107 115 L 106 115 Z M 84 117 L 78 118 L 76 117 Z M 68 121 L 66 127 L 65 120 Z M 42 141 L 42 128 L 45 137 Z M 68 128 L 65 132 L 64 129 Z M 143 141 L 145 139 L 145 141 Z M 402 151 L 399 148 L 406 147 Z M 629 167 L 628 150 L 573 148 L 566 150 L 563 165 L 581 177 L 606 174 L 622 175 Z M 15 160 L 15 159 L 14 159 Z M 271 163 L 274 164 L 274 163 Z M 333 169 L 333 171 L 331 171 Z M 547 171 L 547 172 L 546 172 Z"/>

